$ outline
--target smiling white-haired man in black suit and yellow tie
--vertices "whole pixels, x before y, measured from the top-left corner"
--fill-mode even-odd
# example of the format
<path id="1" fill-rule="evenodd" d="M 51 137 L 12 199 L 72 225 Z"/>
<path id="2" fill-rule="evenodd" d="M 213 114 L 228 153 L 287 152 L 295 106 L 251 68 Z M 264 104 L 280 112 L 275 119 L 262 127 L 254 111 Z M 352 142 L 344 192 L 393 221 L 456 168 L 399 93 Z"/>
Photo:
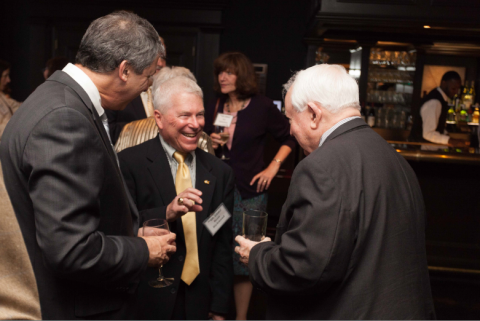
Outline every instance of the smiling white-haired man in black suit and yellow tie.
<path id="1" fill-rule="evenodd" d="M 139 287 L 137 318 L 205 320 L 210 314 L 221 320 L 233 289 L 232 225 L 229 219 L 212 236 L 203 222 L 222 203 L 233 212 L 233 171 L 197 148 L 205 110 L 196 82 L 186 77 L 158 82 L 153 92 L 160 135 L 125 149 L 119 158 L 141 221 L 166 218 L 178 235 L 177 252 L 162 269 L 174 278 L 171 286 L 149 287 L 146 280 L 158 271 L 148 269 Z M 190 187 L 179 186 L 185 179 Z"/>

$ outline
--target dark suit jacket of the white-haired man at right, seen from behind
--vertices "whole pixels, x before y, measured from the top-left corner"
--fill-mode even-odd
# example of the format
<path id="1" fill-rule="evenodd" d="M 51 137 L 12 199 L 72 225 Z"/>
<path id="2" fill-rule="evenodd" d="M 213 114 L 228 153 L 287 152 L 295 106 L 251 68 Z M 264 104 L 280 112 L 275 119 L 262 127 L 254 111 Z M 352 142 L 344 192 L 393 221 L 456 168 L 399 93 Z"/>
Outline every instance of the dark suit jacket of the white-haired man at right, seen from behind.
<path id="1" fill-rule="evenodd" d="M 411 167 L 361 119 L 296 167 L 275 242 L 253 247 L 267 319 L 434 318 Z"/>

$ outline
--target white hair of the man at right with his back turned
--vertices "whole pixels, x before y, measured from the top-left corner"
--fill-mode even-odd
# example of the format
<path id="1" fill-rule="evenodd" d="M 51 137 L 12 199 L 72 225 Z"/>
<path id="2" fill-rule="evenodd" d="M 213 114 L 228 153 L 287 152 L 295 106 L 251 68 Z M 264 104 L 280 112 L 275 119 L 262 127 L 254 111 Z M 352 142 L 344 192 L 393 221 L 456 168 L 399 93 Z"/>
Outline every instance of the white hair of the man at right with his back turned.
<path id="1" fill-rule="evenodd" d="M 322 64 L 301 70 L 283 88 L 285 93 L 292 90 L 292 105 L 297 112 L 303 112 L 309 102 L 318 102 L 334 114 L 346 108 L 360 110 L 358 84 L 340 65 Z"/>

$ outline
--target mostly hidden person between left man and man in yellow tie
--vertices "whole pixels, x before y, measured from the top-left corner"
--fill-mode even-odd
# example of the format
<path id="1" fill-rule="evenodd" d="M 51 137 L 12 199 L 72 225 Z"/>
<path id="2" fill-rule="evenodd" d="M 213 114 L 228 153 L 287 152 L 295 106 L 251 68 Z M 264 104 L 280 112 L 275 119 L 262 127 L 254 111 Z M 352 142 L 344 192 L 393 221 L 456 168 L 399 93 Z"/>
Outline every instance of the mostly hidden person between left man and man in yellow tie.
<path id="1" fill-rule="evenodd" d="M 162 37 L 160 37 L 160 42 L 165 49 L 166 55 L 166 47 L 165 41 Z M 165 57 L 160 57 L 157 62 L 157 72 L 160 71 L 163 67 L 166 66 L 167 61 Z M 148 89 L 144 92 L 140 93 L 137 97 L 135 97 L 128 105 L 125 107 L 124 110 L 107 110 L 107 118 L 108 118 L 108 126 L 110 128 L 110 137 L 112 139 L 112 144 L 115 145 L 118 136 L 122 132 L 123 127 L 126 124 L 131 123 L 132 121 L 145 119 L 147 117 L 153 117 L 153 96 L 152 96 L 152 84 L 153 84 L 153 77 L 150 78 L 148 83 Z"/>

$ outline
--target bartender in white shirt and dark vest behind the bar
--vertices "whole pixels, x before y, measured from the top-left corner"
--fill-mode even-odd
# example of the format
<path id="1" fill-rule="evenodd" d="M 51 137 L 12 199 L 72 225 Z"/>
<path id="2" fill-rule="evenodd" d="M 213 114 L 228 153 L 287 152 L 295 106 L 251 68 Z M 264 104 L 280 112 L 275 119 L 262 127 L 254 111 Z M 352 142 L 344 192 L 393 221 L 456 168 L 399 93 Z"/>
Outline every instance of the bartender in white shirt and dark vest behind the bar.
<path id="1" fill-rule="evenodd" d="M 465 141 L 454 139 L 445 132 L 448 114 L 448 98 L 452 99 L 462 85 L 456 71 L 446 72 L 440 86 L 423 97 L 419 114 L 413 121 L 409 140 L 431 142 L 451 147 L 464 147 Z"/>

